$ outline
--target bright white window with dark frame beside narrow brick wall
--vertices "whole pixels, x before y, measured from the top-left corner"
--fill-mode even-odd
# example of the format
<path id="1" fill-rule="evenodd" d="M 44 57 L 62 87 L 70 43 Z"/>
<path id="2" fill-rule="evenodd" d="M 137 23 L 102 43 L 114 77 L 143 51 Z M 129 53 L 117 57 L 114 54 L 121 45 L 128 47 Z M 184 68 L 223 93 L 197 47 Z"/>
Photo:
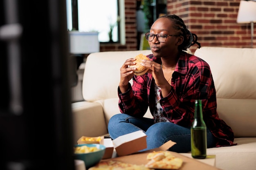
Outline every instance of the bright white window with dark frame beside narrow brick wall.
<path id="1" fill-rule="evenodd" d="M 120 42 L 121 14 L 120 5 L 123 0 L 77 0 L 79 31 L 99 32 L 99 42 Z M 72 23 L 71 0 L 67 0 L 67 25 Z M 71 8 L 72 9 L 72 8 Z M 71 24 L 72 25 L 72 24 Z M 72 27 L 72 26 L 71 26 Z M 110 28 L 112 31 L 110 31 Z M 110 36 L 112 33 L 112 36 Z"/>

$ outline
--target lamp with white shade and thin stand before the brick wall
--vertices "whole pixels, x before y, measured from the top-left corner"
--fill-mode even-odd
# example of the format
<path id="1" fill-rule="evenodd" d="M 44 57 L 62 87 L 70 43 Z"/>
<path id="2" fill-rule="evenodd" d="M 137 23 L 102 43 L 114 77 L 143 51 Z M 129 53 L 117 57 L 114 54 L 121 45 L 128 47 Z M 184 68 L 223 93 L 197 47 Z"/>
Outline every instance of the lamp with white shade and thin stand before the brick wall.
<path id="1" fill-rule="evenodd" d="M 251 47 L 253 48 L 254 22 L 256 22 L 256 2 L 241 0 L 236 22 L 238 24 L 251 23 Z"/>

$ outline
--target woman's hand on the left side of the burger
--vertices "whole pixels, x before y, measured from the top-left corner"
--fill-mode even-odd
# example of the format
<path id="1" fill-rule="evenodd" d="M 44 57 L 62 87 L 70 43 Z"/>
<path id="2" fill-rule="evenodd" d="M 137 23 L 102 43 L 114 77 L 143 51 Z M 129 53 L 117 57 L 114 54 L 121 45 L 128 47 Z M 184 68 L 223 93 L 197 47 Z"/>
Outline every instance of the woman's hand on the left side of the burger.
<path id="1" fill-rule="evenodd" d="M 133 77 L 133 71 L 136 70 L 136 68 L 130 68 L 130 65 L 135 65 L 134 62 L 136 59 L 130 58 L 124 62 L 124 64 L 120 68 L 120 82 L 119 82 L 119 88 L 122 93 L 125 93 L 128 90 L 128 83 L 130 79 Z"/>

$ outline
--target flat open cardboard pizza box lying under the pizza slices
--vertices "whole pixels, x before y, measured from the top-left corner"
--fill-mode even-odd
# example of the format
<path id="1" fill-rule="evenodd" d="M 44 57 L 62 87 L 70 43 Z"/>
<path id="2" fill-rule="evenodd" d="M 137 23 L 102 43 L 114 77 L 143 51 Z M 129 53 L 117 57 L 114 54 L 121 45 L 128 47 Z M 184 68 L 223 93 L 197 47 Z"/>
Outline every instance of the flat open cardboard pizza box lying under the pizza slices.
<path id="1" fill-rule="evenodd" d="M 113 161 L 121 161 L 124 163 L 132 163 L 136 165 L 145 165 L 146 163 L 149 162 L 149 160 L 146 159 L 147 155 L 149 152 L 153 151 L 159 151 L 159 150 L 168 150 L 171 146 L 175 145 L 176 143 L 173 141 L 168 141 L 159 148 L 151 149 L 151 150 L 146 150 L 144 152 L 135 152 L 130 155 L 125 155 L 125 156 L 119 156 L 111 159 L 104 159 L 101 161 L 108 161 L 108 160 L 113 160 Z M 215 166 L 211 166 L 207 163 L 204 163 L 198 159 L 193 159 L 190 157 L 187 157 L 185 155 L 179 154 L 177 152 L 172 152 L 172 154 L 175 157 L 181 158 L 183 160 L 182 166 L 179 168 L 179 170 L 221 170 L 219 168 L 216 168 Z M 207 156 L 208 157 L 208 156 Z"/>

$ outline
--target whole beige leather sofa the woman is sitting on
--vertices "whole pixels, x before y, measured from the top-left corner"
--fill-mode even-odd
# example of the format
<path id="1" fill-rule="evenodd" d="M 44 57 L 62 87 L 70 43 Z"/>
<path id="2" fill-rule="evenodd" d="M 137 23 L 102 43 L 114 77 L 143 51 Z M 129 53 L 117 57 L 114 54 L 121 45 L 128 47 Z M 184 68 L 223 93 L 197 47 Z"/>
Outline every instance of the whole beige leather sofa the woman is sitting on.
<path id="1" fill-rule="evenodd" d="M 117 86 L 124 61 L 145 51 L 92 53 L 85 63 L 85 101 L 72 104 L 74 143 L 81 136 L 108 133 L 108 120 L 119 113 Z M 256 169 L 256 49 L 202 47 L 195 55 L 209 63 L 217 92 L 219 116 L 231 126 L 237 146 L 209 148 L 223 170 Z M 151 117 L 147 112 L 146 117 Z"/>

